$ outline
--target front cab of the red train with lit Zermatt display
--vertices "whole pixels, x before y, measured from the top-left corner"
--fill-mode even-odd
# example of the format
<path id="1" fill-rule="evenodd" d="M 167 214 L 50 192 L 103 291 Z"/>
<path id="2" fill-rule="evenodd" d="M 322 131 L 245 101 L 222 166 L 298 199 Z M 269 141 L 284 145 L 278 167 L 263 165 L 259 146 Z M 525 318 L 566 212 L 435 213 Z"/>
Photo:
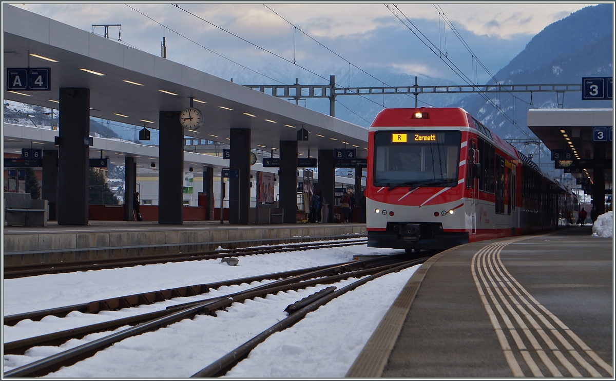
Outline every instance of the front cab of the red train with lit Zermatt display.
<path id="1" fill-rule="evenodd" d="M 461 109 L 450 109 L 450 120 L 439 124 L 435 119 L 444 111 L 410 109 L 405 110 L 407 115 L 402 118 L 408 123 L 408 114 L 413 115 L 420 110 L 424 115 L 425 111 L 433 113 L 436 118 L 425 123 L 416 122 L 416 126 L 413 126 L 412 121 L 410 126 L 397 126 L 394 121 L 387 124 L 387 127 L 393 128 L 374 129 L 369 133 L 369 247 L 391 247 L 407 251 L 447 249 L 468 243 L 469 233 L 476 233 L 477 215 L 468 214 L 469 206 L 465 201 L 468 194 L 474 195 L 474 199 L 471 195 L 470 203 L 471 207 L 476 209 L 479 195 L 477 175 L 473 177 L 476 184 L 474 188 L 468 189 L 464 183 L 467 148 L 471 146 L 471 143 L 467 145 L 467 114 Z M 391 109 L 383 112 L 400 114 L 400 111 Z M 442 122 L 444 118 L 440 119 Z M 378 117 L 375 123 L 377 121 Z M 461 130 L 460 126 L 466 128 Z M 415 140 L 419 142 L 405 140 L 406 144 L 392 143 L 397 133 L 415 136 Z M 423 142 L 422 138 L 432 141 Z M 476 150 L 476 139 L 473 141 L 475 143 L 472 149 Z M 399 167 L 400 158 L 395 155 L 407 158 L 402 168 Z M 394 159 L 398 160 L 397 164 L 392 164 Z M 471 161 L 478 164 L 478 161 L 473 160 L 474 158 Z M 435 162 L 439 164 L 434 164 Z M 378 166 L 383 168 L 378 169 Z M 471 172 L 473 170 L 475 167 L 471 167 Z"/>

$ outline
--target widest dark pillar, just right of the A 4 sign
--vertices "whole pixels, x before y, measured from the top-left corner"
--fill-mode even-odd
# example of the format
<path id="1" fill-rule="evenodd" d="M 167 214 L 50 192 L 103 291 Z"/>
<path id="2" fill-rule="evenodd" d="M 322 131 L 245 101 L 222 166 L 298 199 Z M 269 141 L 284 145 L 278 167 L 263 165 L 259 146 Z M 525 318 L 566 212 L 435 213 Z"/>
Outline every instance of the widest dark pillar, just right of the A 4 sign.
<path id="1" fill-rule="evenodd" d="M 90 147 L 84 143 L 84 138 L 90 135 L 90 89 L 60 89 L 60 126 L 58 224 L 87 225 Z"/>

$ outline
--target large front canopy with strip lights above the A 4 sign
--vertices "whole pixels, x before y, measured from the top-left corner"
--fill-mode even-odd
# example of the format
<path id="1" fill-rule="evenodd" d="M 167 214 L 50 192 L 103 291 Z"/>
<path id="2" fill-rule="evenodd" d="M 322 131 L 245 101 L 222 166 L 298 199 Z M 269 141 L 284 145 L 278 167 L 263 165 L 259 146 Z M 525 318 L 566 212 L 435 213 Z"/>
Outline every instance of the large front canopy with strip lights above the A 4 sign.
<path id="1" fill-rule="evenodd" d="M 186 130 L 188 136 L 225 143 L 230 128 L 247 128 L 251 148 L 269 151 L 281 140 L 296 140 L 304 126 L 310 135 L 299 152 L 316 156 L 346 142 L 357 146 L 357 157 L 367 153 L 364 127 L 8 4 L 2 11 L 4 73 L 51 68 L 50 91 L 7 92 L 3 84 L 5 100 L 57 108 L 60 87 L 87 87 L 91 116 L 158 129 L 159 111 L 184 110 L 193 97 L 205 121 L 197 132 Z"/>

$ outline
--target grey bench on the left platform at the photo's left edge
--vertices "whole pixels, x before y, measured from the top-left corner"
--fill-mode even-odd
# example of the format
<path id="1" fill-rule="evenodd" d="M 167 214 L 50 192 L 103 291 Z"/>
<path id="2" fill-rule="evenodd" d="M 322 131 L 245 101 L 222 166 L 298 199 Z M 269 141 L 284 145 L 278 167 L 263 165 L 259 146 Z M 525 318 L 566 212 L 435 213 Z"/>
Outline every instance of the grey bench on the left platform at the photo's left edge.
<path id="1" fill-rule="evenodd" d="M 7 226 L 46 227 L 49 216 L 47 200 L 33 200 L 30 193 L 4 193 Z"/>

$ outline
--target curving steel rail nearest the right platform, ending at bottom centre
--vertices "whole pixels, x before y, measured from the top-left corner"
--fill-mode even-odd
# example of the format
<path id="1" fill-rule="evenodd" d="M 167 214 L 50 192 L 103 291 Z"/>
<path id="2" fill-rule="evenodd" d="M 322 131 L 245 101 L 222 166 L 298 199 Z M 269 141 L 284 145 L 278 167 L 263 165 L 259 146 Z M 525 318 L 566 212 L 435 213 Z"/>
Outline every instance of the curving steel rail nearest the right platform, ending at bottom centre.
<path id="1" fill-rule="evenodd" d="M 209 364 L 205 368 L 201 369 L 201 371 L 198 371 L 197 373 L 193 374 L 190 377 L 219 377 L 219 376 L 222 376 L 226 374 L 229 371 L 229 369 L 235 366 L 235 364 L 241 361 L 241 359 L 244 359 L 246 356 L 248 356 L 248 353 L 250 353 L 251 350 L 253 350 L 260 343 L 264 342 L 265 339 L 270 337 L 270 335 L 275 334 L 276 332 L 279 332 L 279 331 L 283 331 L 283 329 L 286 329 L 287 327 L 292 326 L 293 324 L 297 323 L 299 320 L 304 318 L 304 316 L 306 316 L 309 312 L 317 310 L 317 308 L 321 307 L 322 305 L 325 305 L 326 303 L 330 302 L 333 299 L 336 299 L 340 295 L 345 294 L 346 292 L 349 292 L 359 286 L 362 286 L 362 284 L 365 284 L 373 279 L 379 278 L 380 276 L 383 276 L 383 275 L 387 275 L 394 271 L 403 270 L 404 268 L 407 268 L 410 266 L 418 265 L 420 263 L 425 262 L 427 259 L 428 258 L 410 260 L 404 263 L 403 265 L 399 265 L 397 267 L 393 267 L 388 270 L 380 271 L 379 273 L 367 276 L 365 278 L 360 279 L 359 281 L 355 281 L 354 283 L 347 284 L 347 286 L 344 286 L 339 290 L 331 292 L 330 294 L 324 293 L 322 297 L 306 305 L 306 307 L 303 307 L 300 310 L 294 313 L 291 313 L 285 319 L 282 319 L 278 323 L 274 324 L 274 326 L 269 327 L 269 329 L 261 332 L 261 334 L 257 335 L 256 337 L 253 337 L 253 339 L 251 340 L 248 340 L 248 342 L 243 343 L 242 345 L 240 345 L 240 347 L 235 348 L 233 351 L 230 351 L 229 353 L 227 353 L 227 355 L 222 356 L 221 358 L 214 361 L 214 363 Z"/>

